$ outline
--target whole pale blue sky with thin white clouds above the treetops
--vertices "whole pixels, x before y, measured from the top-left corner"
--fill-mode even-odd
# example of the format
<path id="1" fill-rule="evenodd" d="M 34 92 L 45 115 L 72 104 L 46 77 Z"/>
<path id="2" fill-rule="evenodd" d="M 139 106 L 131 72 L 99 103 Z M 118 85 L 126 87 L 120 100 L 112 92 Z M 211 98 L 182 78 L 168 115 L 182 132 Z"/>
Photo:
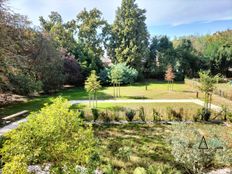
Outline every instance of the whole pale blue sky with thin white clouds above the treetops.
<path id="1" fill-rule="evenodd" d="M 151 35 L 184 36 L 232 29 L 232 0 L 137 0 L 147 10 Z M 98 8 L 112 23 L 120 0 L 9 0 L 9 6 L 39 25 L 39 16 L 58 11 L 65 21 L 83 9 Z"/>

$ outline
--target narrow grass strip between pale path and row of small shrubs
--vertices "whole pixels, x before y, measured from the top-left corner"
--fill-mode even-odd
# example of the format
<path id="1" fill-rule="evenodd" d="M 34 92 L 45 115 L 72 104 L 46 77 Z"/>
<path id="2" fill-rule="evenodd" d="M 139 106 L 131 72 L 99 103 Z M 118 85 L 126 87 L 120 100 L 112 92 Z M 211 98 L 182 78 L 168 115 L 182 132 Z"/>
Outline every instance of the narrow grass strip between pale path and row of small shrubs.
<path id="1" fill-rule="evenodd" d="M 136 111 L 136 116 L 134 120 L 141 120 L 139 118 L 139 109 L 140 107 L 144 108 L 145 117 L 147 121 L 153 121 L 153 109 L 157 111 L 162 120 L 168 120 L 168 112 L 167 109 L 171 108 L 176 112 L 180 112 L 183 109 L 183 120 L 193 120 L 193 116 L 197 113 L 197 110 L 201 108 L 201 106 L 196 105 L 194 103 L 98 103 L 97 109 L 99 112 L 107 112 L 113 120 L 113 115 L 115 114 L 115 110 L 118 111 L 118 115 L 120 120 L 125 120 L 125 111 L 128 109 L 133 109 Z M 73 109 L 82 109 L 85 112 L 85 116 L 87 120 L 93 119 L 91 109 L 86 104 L 74 105 Z M 99 118 L 102 119 L 102 118 Z"/>

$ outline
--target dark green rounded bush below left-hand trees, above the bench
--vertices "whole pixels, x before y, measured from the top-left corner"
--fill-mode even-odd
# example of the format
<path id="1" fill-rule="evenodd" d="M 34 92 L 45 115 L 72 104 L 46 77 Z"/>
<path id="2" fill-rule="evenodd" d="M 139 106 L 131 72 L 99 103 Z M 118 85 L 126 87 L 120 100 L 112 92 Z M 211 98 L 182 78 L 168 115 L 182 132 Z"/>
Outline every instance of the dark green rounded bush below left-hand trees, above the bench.
<path id="1" fill-rule="evenodd" d="M 41 81 L 36 81 L 32 76 L 25 74 L 9 74 L 8 76 L 11 87 L 16 94 L 30 95 L 40 91 L 42 87 Z"/>

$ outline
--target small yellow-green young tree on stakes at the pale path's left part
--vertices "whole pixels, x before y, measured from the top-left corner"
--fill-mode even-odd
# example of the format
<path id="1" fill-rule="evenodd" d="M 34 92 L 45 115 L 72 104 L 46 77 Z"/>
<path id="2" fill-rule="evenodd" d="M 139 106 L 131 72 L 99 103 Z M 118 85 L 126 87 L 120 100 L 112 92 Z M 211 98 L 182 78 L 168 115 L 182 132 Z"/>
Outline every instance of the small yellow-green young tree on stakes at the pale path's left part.
<path id="1" fill-rule="evenodd" d="M 98 80 L 98 78 L 99 77 L 96 75 L 96 71 L 92 70 L 90 76 L 85 81 L 85 90 L 89 93 L 90 107 L 91 103 L 93 104 L 93 107 L 97 106 L 97 91 L 101 88 L 100 81 Z M 94 101 L 96 102 L 95 106 Z"/>

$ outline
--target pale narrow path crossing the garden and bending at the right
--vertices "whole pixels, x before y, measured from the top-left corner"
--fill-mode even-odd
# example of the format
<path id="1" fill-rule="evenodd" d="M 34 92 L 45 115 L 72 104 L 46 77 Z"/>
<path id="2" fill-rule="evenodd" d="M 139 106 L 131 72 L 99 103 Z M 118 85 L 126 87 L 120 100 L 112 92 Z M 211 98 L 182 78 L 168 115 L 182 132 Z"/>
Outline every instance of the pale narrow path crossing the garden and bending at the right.
<path id="1" fill-rule="evenodd" d="M 89 100 L 71 100 L 72 105 L 79 103 L 88 103 Z M 199 99 L 132 99 L 132 100 L 98 100 L 98 103 L 195 103 L 200 106 L 204 106 L 204 102 Z M 220 112 L 221 107 L 216 105 L 211 105 L 211 109 Z M 15 129 L 19 123 L 27 121 L 26 118 L 13 122 L 3 128 L 0 128 L 0 135 Z"/>

